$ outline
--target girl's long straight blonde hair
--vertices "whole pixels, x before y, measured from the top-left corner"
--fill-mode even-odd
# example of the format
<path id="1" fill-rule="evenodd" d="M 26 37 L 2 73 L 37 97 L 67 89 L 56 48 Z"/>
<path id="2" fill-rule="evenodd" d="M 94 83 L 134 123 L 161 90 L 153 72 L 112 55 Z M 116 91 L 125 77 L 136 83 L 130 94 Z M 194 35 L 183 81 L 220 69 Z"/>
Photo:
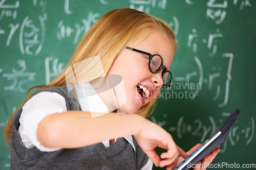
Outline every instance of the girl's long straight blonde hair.
<path id="1" fill-rule="evenodd" d="M 32 95 L 30 94 L 30 91 L 34 88 L 63 86 L 67 84 L 67 77 L 69 77 L 69 81 L 75 82 L 75 80 L 72 78 L 73 76 L 69 74 L 67 75 L 65 72 L 72 68 L 74 64 L 86 60 L 90 57 L 100 57 L 104 70 L 103 74 L 99 68 L 94 67 L 96 63 L 92 61 L 90 64 L 82 65 L 79 67 L 79 71 L 76 71 L 79 75 L 76 75 L 76 77 L 82 77 L 83 81 L 90 81 L 94 78 L 108 75 L 115 57 L 122 50 L 122 48 L 125 47 L 127 43 L 133 41 L 135 38 L 141 38 L 142 31 L 146 28 L 153 28 L 166 35 L 173 43 L 174 51 L 176 51 L 177 44 L 175 42 L 175 34 L 172 28 L 170 28 L 170 26 L 165 21 L 150 14 L 146 14 L 130 8 L 112 10 L 103 15 L 97 22 L 95 22 L 90 30 L 86 33 L 86 35 L 84 35 L 76 47 L 71 60 L 69 61 L 66 68 L 61 72 L 61 74 L 48 85 L 35 86 L 30 88 L 27 92 L 27 99 L 25 102 Z M 9 117 L 9 122 L 5 127 L 5 137 L 9 145 L 10 134 L 12 130 L 12 120 L 17 111 L 24 105 L 24 103 L 20 105 L 19 108 Z M 156 99 L 142 106 L 137 114 L 145 117 L 150 110 L 154 110 L 155 104 Z"/>

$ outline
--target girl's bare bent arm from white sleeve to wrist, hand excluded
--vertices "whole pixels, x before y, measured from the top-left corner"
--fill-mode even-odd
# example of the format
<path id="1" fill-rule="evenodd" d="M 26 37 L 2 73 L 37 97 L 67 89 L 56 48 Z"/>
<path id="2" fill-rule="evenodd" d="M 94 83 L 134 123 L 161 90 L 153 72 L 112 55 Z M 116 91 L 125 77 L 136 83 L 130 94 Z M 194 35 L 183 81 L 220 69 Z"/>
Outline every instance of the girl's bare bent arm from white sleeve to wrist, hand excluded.
<path id="1" fill-rule="evenodd" d="M 49 148 L 79 148 L 135 134 L 145 122 L 138 115 L 67 111 L 48 115 L 38 125 L 38 141 Z"/>

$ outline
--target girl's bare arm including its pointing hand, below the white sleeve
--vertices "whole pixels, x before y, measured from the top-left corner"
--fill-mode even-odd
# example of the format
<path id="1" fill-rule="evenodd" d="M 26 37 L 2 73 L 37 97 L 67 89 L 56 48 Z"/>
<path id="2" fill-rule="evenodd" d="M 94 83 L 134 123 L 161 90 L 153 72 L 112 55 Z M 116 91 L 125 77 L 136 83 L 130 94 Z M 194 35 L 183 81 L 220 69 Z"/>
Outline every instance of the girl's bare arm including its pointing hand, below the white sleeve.
<path id="1" fill-rule="evenodd" d="M 68 111 L 48 115 L 37 128 L 38 141 L 48 148 L 79 148 L 126 135 L 134 135 L 156 166 L 174 168 L 179 155 L 186 157 L 168 132 L 137 114 L 108 113 L 92 118 L 90 112 Z M 156 147 L 167 150 L 161 154 L 164 160 Z"/>

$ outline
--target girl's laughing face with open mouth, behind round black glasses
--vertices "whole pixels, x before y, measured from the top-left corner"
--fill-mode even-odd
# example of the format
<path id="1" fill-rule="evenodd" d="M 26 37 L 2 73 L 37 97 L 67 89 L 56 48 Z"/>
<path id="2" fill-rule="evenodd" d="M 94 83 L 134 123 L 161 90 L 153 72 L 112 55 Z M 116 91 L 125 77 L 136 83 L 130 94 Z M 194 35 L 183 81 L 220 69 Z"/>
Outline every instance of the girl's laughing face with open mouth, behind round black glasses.
<path id="1" fill-rule="evenodd" d="M 163 33 L 151 31 L 145 39 L 138 38 L 128 46 L 160 55 L 163 65 L 169 70 L 174 57 L 173 44 Z M 109 72 L 110 75 L 120 75 L 124 81 L 126 102 L 119 109 L 130 114 L 136 113 L 143 105 L 157 98 L 163 85 L 162 71 L 153 74 L 148 68 L 148 56 L 123 48 Z M 142 86 L 146 92 L 140 90 Z M 147 93 L 148 97 L 143 97 L 143 93 Z"/>

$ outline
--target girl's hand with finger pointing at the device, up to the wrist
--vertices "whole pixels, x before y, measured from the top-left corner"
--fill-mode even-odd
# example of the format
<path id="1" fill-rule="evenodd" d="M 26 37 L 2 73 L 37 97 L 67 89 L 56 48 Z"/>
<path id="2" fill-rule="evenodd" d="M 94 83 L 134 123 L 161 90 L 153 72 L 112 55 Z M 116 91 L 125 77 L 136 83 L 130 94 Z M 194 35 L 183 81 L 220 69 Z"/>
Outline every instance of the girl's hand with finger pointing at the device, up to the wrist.
<path id="1" fill-rule="evenodd" d="M 188 156 L 175 144 L 172 136 L 168 132 L 157 124 L 150 122 L 150 120 L 145 119 L 145 124 L 143 124 L 138 133 L 134 134 L 134 137 L 155 166 L 164 167 L 168 165 L 167 169 L 173 169 L 180 155 L 182 157 Z M 167 150 L 167 152 L 160 155 L 161 159 L 164 160 L 161 160 L 156 153 L 156 147 Z"/>

